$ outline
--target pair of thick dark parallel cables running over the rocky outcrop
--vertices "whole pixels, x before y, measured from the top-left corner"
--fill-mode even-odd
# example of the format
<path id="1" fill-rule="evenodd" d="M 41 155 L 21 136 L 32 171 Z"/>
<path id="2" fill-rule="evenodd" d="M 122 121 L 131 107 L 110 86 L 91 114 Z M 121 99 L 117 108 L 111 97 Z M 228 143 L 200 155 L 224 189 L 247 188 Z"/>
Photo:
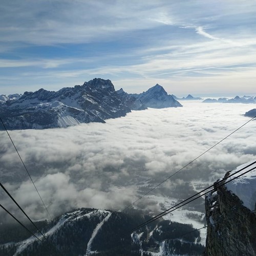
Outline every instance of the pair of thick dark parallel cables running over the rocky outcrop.
<path id="1" fill-rule="evenodd" d="M 208 194 L 209 192 L 216 190 L 216 189 L 219 188 L 220 186 L 223 186 L 223 185 L 225 185 L 226 183 L 228 183 L 228 182 L 230 182 L 230 181 L 232 181 L 232 180 L 234 180 L 234 179 L 237 179 L 237 178 L 241 177 L 242 175 L 244 175 L 244 174 L 246 174 L 246 173 L 248 173 L 248 172 L 251 172 L 251 170 L 255 169 L 256 167 L 253 167 L 253 168 L 251 168 L 250 170 L 247 170 L 245 173 L 243 173 L 243 174 L 241 174 L 241 175 L 239 175 L 239 176 L 237 176 L 237 177 L 234 177 L 233 179 L 230 179 L 229 181 L 227 181 L 227 182 L 225 182 L 225 183 L 222 183 L 221 185 L 219 185 L 219 186 L 217 186 L 217 187 L 214 187 L 214 186 L 216 186 L 217 184 L 219 184 L 220 182 L 223 182 L 224 180 L 226 180 L 227 178 L 232 177 L 233 175 L 236 175 L 237 173 L 241 172 L 241 171 L 244 170 L 245 168 L 248 168 L 249 166 L 251 166 L 251 165 L 254 164 L 254 163 L 256 163 L 256 161 L 253 162 L 253 163 L 251 163 L 251 164 L 249 164 L 249 165 L 247 165 L 247 166 L 245 166 L 245 167 L 243 167 L 242 169 L 240 169 L 240 170 L 238 170 L 236 173 L 233 173 L 232 175 L 226 177 L 225 179 L 216 182 L 214 185 L 211 185 L 211 186 L 209 186 L 209 187 L 203 189 L 202 191 L 200 191 L 199 193 L 195 194 L 194 196 L 191 196 L 191 197 L 189 197 L 188 199 L 186 199 L 186 200 L 184 200 L 184 201 L 182 201 L 182 202 L 180 202 L 180 203 L 174 205 L 173 207 L 170 207 L 169 209 L 167 209 L 167 210 L 161 212 L 161 214 L 158 214 L 157 216 L 151 218 L 150 220 L 147 220 L 147 221 L 141 223 L 141 224 L 138 225 L 137 227 L 133 228 L 131 231 L 133 232 L 133 231 L 135 231 L 135 230 L 137 230 L 137 229 L 139 229 L 139 228 L 141 228 L 141 227 L 143 227 L 143 226 L 145 226 L 145 225 L 147 225 L 147 224 L 150 224 L 151 222 L 156 221 L 157 219 L 159 219 L 159 218 L 165 216 L 166 214 L 169 214 L 170 212 L 173 212 L 174 210 L 177 210 L 178 208 L 180 208 L 180 207 L 182 207 L 182 206 L 184 206 L 184 205 L 186 205 L 186 204 L 188 204 L 188 203 L 190 203 L 190 202 L 193 202 L 194 200 L 196 200 L 196 199 L 198 199 L 198 198 L 200 198 L 200 197 L 202 197 L 202 196 Z M 204 194 L 201 195 L 201 193 L 202 193 L 203 191 L 209 189 L 210 187 L 214 187 L 214 188 L 210 189 L 209 191 L 206 191 Z M 200 194 L 200 195 L 199 195 L 199 194 Z M 199 195 L 199 196 L 196 197 L 196 198 L 194 198 L 194 199 L 192 199 L 192 200 L 190 200 L 190 201 L 188 201 L 188 202 L 185 203 L 185 204 L 182 204 L 182 203 L 184 203 L 185 201 L 187 201 L 187 200 L 189 200 L 189 199 L 191 199 L 191 198 L 193 198 L 193 197 L 195 197 L 195 196 L 197 196 L 197 195 Z M 180 204 L 182 204 L 182 205 L 180 205 Z M 179 205 L 179 206 L 178 206 L 178 205 Z M 177 206 L 178 206 L 178 207 L 177 207 Z M 175 207 L 176 207 L 176 208 L 175 208 Z M 174 209 L 174 208 L 175 208 L 175 209 Z"/>

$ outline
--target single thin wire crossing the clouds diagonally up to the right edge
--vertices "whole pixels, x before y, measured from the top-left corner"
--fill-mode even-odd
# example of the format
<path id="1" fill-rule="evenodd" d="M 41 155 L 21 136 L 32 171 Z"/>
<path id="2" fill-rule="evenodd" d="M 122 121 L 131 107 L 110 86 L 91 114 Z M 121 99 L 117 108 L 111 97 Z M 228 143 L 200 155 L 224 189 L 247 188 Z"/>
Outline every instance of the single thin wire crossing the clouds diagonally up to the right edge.
<path id="1" fill-rule="evenodd" d="M 185 166 L 183 166 L 182 168 L 180 168 L 179 170 L 177 170 L 177 172 L 175 172 L 174 174 L 172 174 L 171 176 L 169 176 L 168 178 L 166 178 L 165 180 L 163 180 L 161 183 L 159 183 L 158 185 L 156 185 L 155 187 L 153 187 L 152 189 L 150 189 L 149 191 L 147 191 L 147 193 L 145 193 L 143 196 L 141 196 L 140 198 L 138 198 L 136 201 L 134 201 L 132 204 L 130 204 L 129 206 L 125 207 L 122 211 L 125 211 L 126 209 L 130 208 L 131 206 L 133 206 L 135 203 L 137 203 L 139 200 L 141 200 L 144 196 L 146 196 L 147 194 L 151 193 L 151 191 L 153 191 L 154 189 L 156 189 L 158 186 L 160 186 L 161 184 L 163 184 L 166 180 L 172 178 L 174 175 L 176 175 L 177 173 L 179 173 L 181 170 L 183 170 L 184 168 L 186 168 L 189 164 L 193 163 L 194 161 L 196 161 L 198 158 L 200 158 L 201 156 L 203 156 L 205 153 L 207 153 L 208 151 L 210 151 L 212 148 L 214 148 L 215 146 L 217 146 L 218 144 L 220 144 L 223 140 L 225 140 L 226 138 L 228 138 L 229 136 L 231 136 L 233 133 L 236 133 L 239 129 L 241 129 L 244 125 L 246 125 L 247 123 L 249 123 L 251 120 L 253 120 L 254 118 L 256 118 L 256 116 L 254 116 L 253 118 L 251 118 L 249 121 L 247 121 L 246 123 L 244 123 L 243 125 L 241 125 L 240 127 L 238 127 L 238 129 L 234 130 L 232 133 L 230 133 L 229 135 L 227 135 L 225 138 L 223 138 L 222 140 L 220 140 L 219 142 L 217 142 L 215 145 L 211 146 L 210 148 L 208 148 L 208 150 L 206 150 L 204 153 L 202 153 L 201 155 L 199 155 L 198 157 L 196 157 L 194 160 L 190 161 L 189 163 L 187 163 Z"/>

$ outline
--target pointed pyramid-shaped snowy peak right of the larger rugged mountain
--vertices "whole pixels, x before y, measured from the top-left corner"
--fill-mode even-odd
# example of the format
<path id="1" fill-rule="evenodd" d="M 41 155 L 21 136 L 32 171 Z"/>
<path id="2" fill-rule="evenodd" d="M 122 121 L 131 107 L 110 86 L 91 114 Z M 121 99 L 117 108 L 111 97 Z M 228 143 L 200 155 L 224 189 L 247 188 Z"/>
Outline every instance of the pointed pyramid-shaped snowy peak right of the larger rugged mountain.
<path id="1" fill-rule="evenodd" d="M 133 110 L 145 108 L 176 108 L 182 106 L 180 102 L 173 98 L 173 96 L 168 95 L 159 84 L 156 84 L 154 87 L 140 94 L 127 94 L 122 89 L 117 91 L 117 93 L 123 100 L 129 102 L 129 105 Z"/>

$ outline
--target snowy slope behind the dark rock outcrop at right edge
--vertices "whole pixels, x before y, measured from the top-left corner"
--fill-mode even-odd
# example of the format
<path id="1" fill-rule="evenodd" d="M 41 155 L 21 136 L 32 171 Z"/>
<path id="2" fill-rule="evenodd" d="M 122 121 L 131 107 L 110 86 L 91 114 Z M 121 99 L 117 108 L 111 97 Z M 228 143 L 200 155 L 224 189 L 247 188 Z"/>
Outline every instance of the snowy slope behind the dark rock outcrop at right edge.
<path id="1" fill-rule="evenodd" d="M 254 161 L 238 166 L 236 169 L 232 170 L 230 175 Z M 233 194 L 237 195 L 240 198 L 240 200 L 243 202 L 244 206 L 250 210 L 255 209 L 255 203 L 256 203 L 256 164 L 251 165 L 250 167 L 242 170 L 241 173 L 238 173 L 230 177 L 229 179 L 227 179 L 228 181 L 234 177 L 237 177 L 242 173 L 245 173 L 247 170 L 252 169 L 253 167 L 255 169 L 251 170 L 251 172 L 245 175 L 242 175 L 241 177 L 233 181 L 230 181 L 225 185 L 226 188 L 230 190 Z"/>

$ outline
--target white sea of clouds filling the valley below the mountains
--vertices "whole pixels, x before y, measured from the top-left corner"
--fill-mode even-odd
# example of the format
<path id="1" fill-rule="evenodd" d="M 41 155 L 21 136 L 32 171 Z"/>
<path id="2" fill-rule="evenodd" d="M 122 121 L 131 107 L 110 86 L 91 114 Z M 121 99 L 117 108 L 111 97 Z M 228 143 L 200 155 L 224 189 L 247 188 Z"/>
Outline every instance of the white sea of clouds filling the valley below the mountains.
<path id="1" fill-rule="evenodd" d="M 52 216 L 77 207 L 123 209 L 248 121 L 243 114 L 253 108 L 181 103 L 183 108 L 133 111 L 106 123 L 9 133 Z M 151 194 L 185 198 L 186 184 L 212 184 L 255 159 L 255 126 L 249 122 Z M 9 137 L 4 131 L 0 136 L 1 182 L 32 218 L 48 218 Z M 0 196 L 19 216 L 4 191 Z M 136 207 L 146 209 L 147 201 Z M 153 201 L 148 207 L 157 206 Z"/>

